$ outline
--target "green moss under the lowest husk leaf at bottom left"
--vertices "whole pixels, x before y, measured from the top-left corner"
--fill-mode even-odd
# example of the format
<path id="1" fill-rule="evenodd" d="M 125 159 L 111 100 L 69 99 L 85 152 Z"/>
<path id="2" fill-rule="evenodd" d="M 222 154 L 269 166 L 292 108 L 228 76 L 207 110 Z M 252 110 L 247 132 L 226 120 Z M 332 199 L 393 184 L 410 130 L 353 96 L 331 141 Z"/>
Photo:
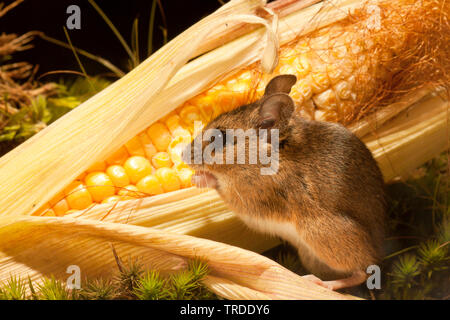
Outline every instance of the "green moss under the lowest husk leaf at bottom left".
<path id="1" fill-rule="evenodd" d="M 115 251 L 114 251 L 115 252 Z M 43 278 L 35 285 L 18 277 L 0 286 L 0 300 L 172 300 L 217 299 L 202 283 L 209 270 L 201 260 L 189 261 L 185 270 L 161 276 L 156 270 L 145 269 L 138 259 L 124 263 L 116 256 L 118 273 L 111 279 L 86 279 L 81 288 L 69 290 L 55 277 Z M 28 292 L 27 292 L 27 289 Z"/>

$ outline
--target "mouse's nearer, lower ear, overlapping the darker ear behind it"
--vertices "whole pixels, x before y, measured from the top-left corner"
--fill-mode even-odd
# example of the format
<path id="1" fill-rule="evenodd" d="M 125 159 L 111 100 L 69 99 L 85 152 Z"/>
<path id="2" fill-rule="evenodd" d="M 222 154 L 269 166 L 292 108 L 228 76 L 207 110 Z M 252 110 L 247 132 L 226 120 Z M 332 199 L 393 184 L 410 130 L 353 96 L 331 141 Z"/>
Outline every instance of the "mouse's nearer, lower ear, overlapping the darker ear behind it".
<path id="1" fill-rule="evenodd" d="M 258 128 L 284 128 L 294 112 L 294 101 L 285 93 L 263 98 L 259 107 Z"/>

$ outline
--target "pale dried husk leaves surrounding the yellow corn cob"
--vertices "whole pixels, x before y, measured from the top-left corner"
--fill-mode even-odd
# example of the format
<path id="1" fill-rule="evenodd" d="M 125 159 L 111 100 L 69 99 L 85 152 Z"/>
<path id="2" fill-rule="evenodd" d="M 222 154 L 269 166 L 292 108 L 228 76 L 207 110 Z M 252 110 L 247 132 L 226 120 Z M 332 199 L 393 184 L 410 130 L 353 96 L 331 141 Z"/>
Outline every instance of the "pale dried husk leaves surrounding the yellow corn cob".
<path id="1" fill-rule="evenodd" d="M 184 189 L 99 205 L 63 218 L 28 216 L 92 163 L 223 75 L 261 57 L 276 59 L 277 43 L 338 21 L 362 2 L 341 1 L 326 10 L 321 3 L 287 10 L 276 41 L 267 36 L 273 32 L 269 17 L 264 28 L 181 67 L 192 55 L 215 47 L 218 42 L 212 42 L 210 35 L 225 32 L 224 24 L 233 21 L 233 16 L 262 23 L 254 16 L 262 5 L 262 1 L 231 1 L 0 159 L 0 191 L 5 195 L 0 199 L 0 280 L 10 274 L 29 275 L 33 280 L 54 274 L 64 279 L 67 266 L 74 264 L 85 276 L 109 276 L 115 268 L 109 248 L 113 243 L 120 256 L 141 256 L 146 265 L 164 272 L 183 268 L 186 259 L 201 257 L 211 268 L 205 284 L 229 299 L 350 298 L 303 281 L 275 262 L 242 249 L 261 252 L 277 240 L 247 230 L 214 191 Z M 321 19 L 310 24 L 319 13 Z M 448 102 L 434 90 L 413 92 L 351 128 L 372 150 L 387 181 L 448 146 Z"/>

